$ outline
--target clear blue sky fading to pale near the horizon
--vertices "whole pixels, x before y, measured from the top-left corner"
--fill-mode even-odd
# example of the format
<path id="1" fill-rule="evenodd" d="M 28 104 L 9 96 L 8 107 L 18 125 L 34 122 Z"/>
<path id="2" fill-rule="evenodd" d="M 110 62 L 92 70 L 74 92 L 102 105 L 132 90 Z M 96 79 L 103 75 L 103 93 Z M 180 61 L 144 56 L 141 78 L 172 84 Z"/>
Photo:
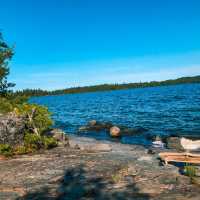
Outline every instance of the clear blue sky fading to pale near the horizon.
<path id="1" fill-rule="evenodd" d="M 199 0 L 0 0 L 16 89 L 200 74 Z"/>

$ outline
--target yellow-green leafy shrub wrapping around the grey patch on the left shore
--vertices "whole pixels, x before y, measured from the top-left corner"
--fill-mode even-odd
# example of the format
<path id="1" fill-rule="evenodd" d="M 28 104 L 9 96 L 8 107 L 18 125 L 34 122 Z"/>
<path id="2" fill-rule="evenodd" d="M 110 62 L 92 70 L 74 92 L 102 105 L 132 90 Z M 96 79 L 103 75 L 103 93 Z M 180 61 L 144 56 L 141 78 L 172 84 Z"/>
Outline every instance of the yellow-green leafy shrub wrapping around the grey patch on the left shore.
<path id="1" fill-rule="evenodd" d="M 52 137 L 41 136 L 52 124 L 51 114 L 43 106 L 28 104 L 26 98 L 0 98 L 0 113 L 14 112 L 16 115 L 24 117 L 25 134 L 24 146 L 14 148 L 14 154 L 24 154 L 35 152 L 41 148 L 50 149 L 57 146 L 57 142 Z M 6 153 L 6 151 L 5 151 Z M 2 153 L 1 153 L 2 154 Z M 8 151 L 10 154 L 10 151 Z"/>

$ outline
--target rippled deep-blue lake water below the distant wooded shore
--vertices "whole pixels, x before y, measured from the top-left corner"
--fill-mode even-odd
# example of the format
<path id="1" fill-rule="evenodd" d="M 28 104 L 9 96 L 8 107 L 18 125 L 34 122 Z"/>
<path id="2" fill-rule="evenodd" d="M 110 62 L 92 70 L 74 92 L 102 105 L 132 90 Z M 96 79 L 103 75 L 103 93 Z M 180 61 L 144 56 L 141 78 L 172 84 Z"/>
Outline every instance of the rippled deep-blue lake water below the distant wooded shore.
<path id="1" fill-rule="evenodd" d="M 95 119 L 130 128 L 143 127 L 151 135 L 200 136 L 200 84 L 151 87 L 33 97 L 53 113 L 55 126 L 67 133 Z M 86 132 L 84 136 L 110 139 L 107 133 Z M 122 143 L 147 144 L 144 135 L 123 137 Z"/>

